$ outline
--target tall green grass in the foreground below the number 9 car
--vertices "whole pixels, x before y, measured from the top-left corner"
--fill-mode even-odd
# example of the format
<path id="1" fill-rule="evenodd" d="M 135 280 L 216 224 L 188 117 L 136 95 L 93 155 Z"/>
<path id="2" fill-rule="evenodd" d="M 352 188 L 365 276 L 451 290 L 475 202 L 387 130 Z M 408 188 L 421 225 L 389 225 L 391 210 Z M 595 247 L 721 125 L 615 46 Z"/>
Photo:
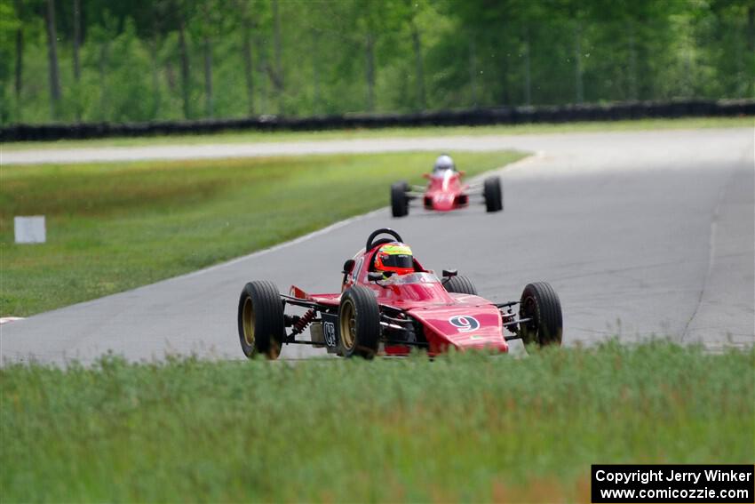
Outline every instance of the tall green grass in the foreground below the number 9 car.
<path id="1" fill-rule="evenodd" d="M 0 369 L 13 501 L 589 500 L 593 463 L 753 461 L 755 353 Z"/>

